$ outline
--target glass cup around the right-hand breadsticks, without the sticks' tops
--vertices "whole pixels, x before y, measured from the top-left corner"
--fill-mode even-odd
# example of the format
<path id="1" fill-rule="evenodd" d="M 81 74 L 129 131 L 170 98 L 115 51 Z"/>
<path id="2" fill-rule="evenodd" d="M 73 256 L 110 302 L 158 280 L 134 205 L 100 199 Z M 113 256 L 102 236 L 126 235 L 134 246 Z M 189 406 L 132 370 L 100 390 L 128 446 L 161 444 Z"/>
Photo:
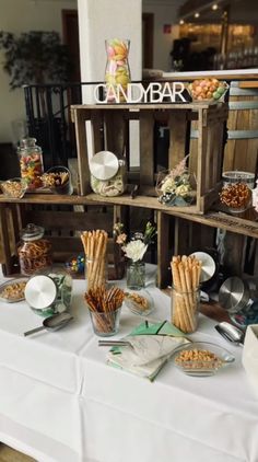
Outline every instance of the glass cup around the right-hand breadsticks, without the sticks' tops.
<path id="1" fill-rule="evenodd" d="M 172 288 L 172 324 L 185 334 L 191 334 L 198 327 L 200 290 L 180 291 Z"/>

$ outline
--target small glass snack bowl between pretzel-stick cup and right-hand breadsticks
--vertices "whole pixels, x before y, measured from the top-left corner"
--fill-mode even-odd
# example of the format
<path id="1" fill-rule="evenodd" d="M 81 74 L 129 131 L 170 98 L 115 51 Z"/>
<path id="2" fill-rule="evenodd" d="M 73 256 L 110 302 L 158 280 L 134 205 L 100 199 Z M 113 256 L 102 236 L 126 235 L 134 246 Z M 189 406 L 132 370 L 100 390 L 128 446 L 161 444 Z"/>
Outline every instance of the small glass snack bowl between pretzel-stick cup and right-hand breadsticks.
<path id="1" fill-rule="evenodd" d="M 126 293 L 128 297 L 125 297 L 125 304 L 132 313 L 148 316 L 154 311 L 154 300 L 148 290 L 126 290 Z"/>

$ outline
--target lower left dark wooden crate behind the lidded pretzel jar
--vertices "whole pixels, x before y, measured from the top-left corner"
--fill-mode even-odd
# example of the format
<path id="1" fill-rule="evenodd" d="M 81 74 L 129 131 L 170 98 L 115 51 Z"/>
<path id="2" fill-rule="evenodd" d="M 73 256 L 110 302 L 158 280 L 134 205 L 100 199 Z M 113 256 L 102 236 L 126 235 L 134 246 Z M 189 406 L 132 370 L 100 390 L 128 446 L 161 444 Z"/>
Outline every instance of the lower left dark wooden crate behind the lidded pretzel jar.
<path id="1" fill-rule="evenodd" d="M 21 229 L 30 222 L 45 228 L 45 238 L 52 245 L 54 262 L 62 264 L 74 255 L 83 254 L 81 231 L 105 229 L 108 232 L 108 278 L 121 279 L 125 275 L 125 256 L 113 236 L 115 222 L 127 223 L 125 207 L 37 204 L 35 198 L 34 204 L 1 203 L 0 218 L 1 263 L 5 276 L 20 272 L 16 244 L 20 241 Z"/>

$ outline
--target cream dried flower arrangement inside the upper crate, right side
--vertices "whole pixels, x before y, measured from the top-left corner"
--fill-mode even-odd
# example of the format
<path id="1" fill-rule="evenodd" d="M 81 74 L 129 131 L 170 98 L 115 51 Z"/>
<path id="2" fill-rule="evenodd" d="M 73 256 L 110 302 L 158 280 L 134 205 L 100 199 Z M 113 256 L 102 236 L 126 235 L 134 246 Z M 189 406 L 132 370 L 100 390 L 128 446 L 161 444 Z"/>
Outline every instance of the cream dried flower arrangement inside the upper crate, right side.
<path id="1" fill-rule="evenodd" d="M 196 192 L 192 189 L 190 173 L 186 165 L 188 157 L 186 155 L 175 169 L 160 172 L 156 183 L 160 203 L 177 207 L 192 203 Z"/>

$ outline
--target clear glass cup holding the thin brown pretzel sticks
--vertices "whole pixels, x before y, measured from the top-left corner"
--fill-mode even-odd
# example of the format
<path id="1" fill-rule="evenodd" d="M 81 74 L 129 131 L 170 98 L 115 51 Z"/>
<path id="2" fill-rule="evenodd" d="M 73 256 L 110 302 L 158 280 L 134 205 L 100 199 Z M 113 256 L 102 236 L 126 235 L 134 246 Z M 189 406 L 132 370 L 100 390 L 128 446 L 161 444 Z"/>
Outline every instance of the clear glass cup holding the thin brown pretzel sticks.
<path id="1" fill-rule="evenodd" d="M 93 331 L 99 337 L 110 337 L 116 335 L 119 330 L 119 321 L 121 307 L 117 310 L 99 313 L 97 311 L 90 311 Z"/>

